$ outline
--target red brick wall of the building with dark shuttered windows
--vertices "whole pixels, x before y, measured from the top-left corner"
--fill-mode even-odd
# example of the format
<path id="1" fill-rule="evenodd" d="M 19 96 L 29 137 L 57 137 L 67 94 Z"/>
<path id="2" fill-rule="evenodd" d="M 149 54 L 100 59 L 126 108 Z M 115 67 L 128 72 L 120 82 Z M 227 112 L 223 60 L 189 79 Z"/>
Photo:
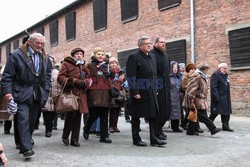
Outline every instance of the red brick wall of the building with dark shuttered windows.
<path id="1" fill-rule="evenodd" d="M 93 28 L 92 2 L 76 10 L 76 39 L 66 41 L 65 18 L 59 19 L 58 45 L 49 43 L 49 27 L 45 25 L 46 50 L 57 61 L 70 54 L 74 47 L 82 47 L 89 59 L 96 46 L 102 46 L 113 56 L 118 50 L 137 47 L 137 39 L 148 35 L 152 39 L 163 36 L 167 40 L 187 40 L 187 61 L 190 62 L 190 4 L 183 0 L 180 6 L 159 11 L 158 0 L 139 0 L 138 19 L 123 24 L 119 0 L 108 2 L 107 29 L 98 33 Z M 230 65 L 229 41 L 226 28 L 235 24 L 250 23 L 250 1 L 247 0 L 195 0 L 195 52 L 196 63 L 206 62 L 211 66 L 209 75 L 218 63 Z M 20 40 L 21 41 L 21 40 Z M 3 54 L 4 53 L 4 54 Z M 2 47 L 5 55 L 5 47 Z M 2 57 L 5 59 L 5 56 Z M 229 71 L 234 113 L 250 115 L 249 70 Z"/>

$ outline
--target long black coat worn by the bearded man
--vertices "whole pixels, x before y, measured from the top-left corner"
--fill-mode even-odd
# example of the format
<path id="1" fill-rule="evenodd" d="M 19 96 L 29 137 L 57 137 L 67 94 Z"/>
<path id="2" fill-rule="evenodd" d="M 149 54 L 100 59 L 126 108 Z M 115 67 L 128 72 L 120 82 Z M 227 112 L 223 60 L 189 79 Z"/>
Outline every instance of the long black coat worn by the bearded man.
<path id="1" fill-rule="evenodd" d="M 157 78 L 163 80 L 163 87 L 158 89 L 159 123 L 169 120 L 171 113 L 170 95 L 170 60 L 166 52 L 162 53 L 157 48 L 153 48 L 151 53 L 155 55 L 157 66 Z"/>

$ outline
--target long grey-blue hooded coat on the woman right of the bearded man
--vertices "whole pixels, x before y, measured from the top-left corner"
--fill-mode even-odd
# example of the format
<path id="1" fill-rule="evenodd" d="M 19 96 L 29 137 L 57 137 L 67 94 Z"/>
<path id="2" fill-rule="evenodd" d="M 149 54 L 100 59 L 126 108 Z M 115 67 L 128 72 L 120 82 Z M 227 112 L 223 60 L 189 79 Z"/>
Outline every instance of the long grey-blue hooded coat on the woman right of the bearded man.
<path id="1" fill-rule="evenodd" d="M 177 74 L 173 73 L 173 65 L 177 64 L 178 72 Z M 181 107 L 181 76 L 178 63 L 175 61 L 171 62 L 171 75 L 170 75 L 170 93 L 171 93 L 171 120 L 181 119 L 182 107 Z"/>

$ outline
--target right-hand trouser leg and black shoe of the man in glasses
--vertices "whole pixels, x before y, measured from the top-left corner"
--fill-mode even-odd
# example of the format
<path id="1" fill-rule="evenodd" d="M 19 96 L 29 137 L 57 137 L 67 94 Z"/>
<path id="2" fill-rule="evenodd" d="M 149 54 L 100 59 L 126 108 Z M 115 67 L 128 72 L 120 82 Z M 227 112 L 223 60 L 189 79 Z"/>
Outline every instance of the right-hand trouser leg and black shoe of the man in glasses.
<path id="1" fill-rule="evenodd" d="M 165 141 L 159 140 L 156 136 L 157 131 L 157 120 L 156 118 L 148 119 L 149 120 L 149 129 L 150 129 L 150 145 L 151 146 L 162 146 L 167 144 Z"/>

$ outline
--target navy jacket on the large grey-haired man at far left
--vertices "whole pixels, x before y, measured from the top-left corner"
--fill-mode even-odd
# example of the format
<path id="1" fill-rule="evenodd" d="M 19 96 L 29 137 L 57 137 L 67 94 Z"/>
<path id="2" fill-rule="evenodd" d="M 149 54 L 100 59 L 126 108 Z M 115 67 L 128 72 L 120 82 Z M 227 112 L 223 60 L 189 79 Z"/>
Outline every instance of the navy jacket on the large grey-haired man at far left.
<path id="1" fill-rule="evenodd" d="M 16 103 L 32 104 L 36 98 L 45 105 L 51 87 L 51 62 L 45 52 L 41 55 L 39 77 L 24 45 L 10 54 L 2 76 L 3 95 L 11 93 Z"/>

